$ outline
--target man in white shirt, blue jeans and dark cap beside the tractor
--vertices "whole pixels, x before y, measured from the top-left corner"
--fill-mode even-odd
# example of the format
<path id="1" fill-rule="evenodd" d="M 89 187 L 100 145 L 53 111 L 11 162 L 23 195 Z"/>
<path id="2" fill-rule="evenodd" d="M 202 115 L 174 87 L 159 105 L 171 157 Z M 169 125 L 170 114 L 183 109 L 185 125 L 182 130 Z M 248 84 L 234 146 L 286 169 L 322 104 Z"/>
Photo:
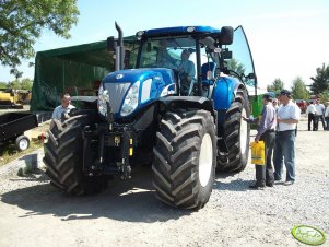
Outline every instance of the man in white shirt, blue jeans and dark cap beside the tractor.
<path id="1" fill-rule="evenodd" d="M 286 168 L 284 185 L 293 185 L 295 181 L 295 137 L 296 126 L 301 118 L 299 107 L 293 103 L 291 92 L 282 90 L 279 95 L 281 103 L 278 113 L 278 131 L 274 143 L 273 163 L 274 179 L 282 179 L 283 161 Z"/>

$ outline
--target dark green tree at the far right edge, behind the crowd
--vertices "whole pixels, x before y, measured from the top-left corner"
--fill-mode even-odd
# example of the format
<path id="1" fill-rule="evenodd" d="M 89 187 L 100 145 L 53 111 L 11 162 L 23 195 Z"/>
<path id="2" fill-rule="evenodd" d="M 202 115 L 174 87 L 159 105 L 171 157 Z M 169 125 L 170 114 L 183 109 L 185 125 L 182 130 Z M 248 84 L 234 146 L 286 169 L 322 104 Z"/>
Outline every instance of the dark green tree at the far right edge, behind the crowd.
<path id="1" fill-rule="evenodd" d="M 322 63 L 321 68 L 317 68 L 317 75 L 310 78 L 314 83 L 310 85 L 310 90 L 314 94 L 320 94 L 329 91 L 329 66 L 326 67 Z"/>

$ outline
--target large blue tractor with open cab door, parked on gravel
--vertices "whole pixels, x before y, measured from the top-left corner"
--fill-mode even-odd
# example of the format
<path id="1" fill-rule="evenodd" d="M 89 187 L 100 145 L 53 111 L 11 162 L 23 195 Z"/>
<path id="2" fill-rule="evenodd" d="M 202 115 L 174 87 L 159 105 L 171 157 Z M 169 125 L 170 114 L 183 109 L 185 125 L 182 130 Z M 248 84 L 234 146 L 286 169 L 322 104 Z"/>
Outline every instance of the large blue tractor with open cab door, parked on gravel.
<path id="1" fill-rule="evenodd" d="M 51 124 L 44 158 L 50 181 L 69 195 L 95 193 L 109 177 L 129 178 L 149 163 L 160 200 L 200 209 L 215 172 L 247 164 L 250 127 L 242 117 L 250 115 L 246 84 L 257 81 L 245 33 L 148 30 L 137 33 L 138 48 L 125 49 L 116 27 L 118 38 L 108 38 L 116 71 L 103 79 L 95 108 Z"/>

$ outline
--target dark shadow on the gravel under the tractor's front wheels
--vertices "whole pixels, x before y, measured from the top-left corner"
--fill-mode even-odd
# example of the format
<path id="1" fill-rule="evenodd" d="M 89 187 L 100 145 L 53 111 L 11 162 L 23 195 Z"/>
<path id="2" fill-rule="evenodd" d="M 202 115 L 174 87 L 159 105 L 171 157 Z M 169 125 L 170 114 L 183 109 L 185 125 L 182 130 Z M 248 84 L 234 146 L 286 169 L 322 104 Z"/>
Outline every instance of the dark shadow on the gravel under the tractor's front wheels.
<path id="1" fill-rule="evenodd" d="M 62 221 L 108 217 L 127 222 L 165 222 L 189 215 L 193 211 L 171 208 L 156 199 L 150 167 L 140 167 L 129 180 L 114 179 L 108 189 L 87 197 L 66 196 L 42 177 L 36 186 L 16 189 L 1 196 L 1 201 L 28 212 L 20 215 L 52 214 Z"/>

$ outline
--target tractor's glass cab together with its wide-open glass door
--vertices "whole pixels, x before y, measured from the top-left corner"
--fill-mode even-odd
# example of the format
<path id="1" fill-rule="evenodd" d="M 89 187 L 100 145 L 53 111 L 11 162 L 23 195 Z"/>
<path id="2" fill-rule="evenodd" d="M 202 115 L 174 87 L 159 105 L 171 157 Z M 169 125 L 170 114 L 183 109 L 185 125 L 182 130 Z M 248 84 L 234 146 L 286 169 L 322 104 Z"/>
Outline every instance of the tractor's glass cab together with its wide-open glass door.
<path id="1" fill-rule="evenodd" d="M 234 36 L 234 38 L 233 38 Z M 224 26 L 184 26 L 140 31 L 136 68 L 172 69 L 178 95 L 211 96 L 221 73 L 257 84 L 252 57 L 244 30 Z M 187 56 L 186 56 L 187 55 Z"/>

